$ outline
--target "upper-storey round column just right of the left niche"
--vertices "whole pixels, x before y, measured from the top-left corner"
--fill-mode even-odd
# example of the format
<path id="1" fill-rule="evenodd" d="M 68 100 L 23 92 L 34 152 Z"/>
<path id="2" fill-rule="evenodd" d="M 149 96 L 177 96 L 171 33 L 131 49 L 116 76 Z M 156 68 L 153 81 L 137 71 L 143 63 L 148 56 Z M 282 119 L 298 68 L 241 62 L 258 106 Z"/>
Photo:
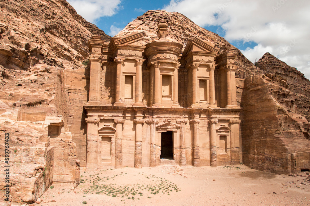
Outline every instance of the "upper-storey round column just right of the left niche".
<path id="1" fill-rule="evenodd" d="M 144 106 L 142 103 L 142 65 L 144 59 L 136 60 L 136 76 L 135 76 L 135 103 L 134 106 Z"/>

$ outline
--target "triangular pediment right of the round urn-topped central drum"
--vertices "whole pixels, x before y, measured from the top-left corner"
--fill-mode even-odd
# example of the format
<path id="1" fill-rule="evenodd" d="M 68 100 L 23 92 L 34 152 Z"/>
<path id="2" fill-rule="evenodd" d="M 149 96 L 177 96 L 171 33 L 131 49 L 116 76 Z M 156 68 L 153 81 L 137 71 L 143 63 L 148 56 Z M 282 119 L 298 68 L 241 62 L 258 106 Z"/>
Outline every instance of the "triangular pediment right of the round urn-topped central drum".
<path id="1" fill-rule="evenodd" d="M 183 56 L 186 56 L 189 52 L 205 52 L 217 54 L 219 51 L 214 48 L 211 43 L 202 41 L 197 37 L 193 37 L 188 40 L 183 52 Z"/>

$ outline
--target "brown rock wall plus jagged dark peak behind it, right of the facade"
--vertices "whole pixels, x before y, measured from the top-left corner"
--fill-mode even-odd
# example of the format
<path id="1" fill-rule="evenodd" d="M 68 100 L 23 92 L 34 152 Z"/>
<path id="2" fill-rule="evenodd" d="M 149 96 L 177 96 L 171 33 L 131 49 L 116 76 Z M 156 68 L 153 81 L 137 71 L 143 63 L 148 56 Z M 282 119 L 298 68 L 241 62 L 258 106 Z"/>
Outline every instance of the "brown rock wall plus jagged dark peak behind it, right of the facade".
<path id="1" fill-rule="evenodd" d="M 245 79 L 241 99 L 243 162 L 275 173 L 308 170 L 310 81 L 269 53 L 257 69 L 264 75 Z"/>

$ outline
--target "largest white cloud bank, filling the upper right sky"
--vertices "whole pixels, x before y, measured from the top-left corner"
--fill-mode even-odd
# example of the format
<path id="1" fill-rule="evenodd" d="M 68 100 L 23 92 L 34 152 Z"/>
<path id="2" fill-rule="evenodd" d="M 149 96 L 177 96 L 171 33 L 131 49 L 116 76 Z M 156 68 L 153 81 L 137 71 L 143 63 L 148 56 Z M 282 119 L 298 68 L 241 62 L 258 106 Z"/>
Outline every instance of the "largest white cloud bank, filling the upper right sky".
<path id="1" fill-rule="evenodd" d="M 164 9 L 180 12 L 201 27 L 220 25 L 228 41 L 257 43 L 242 51 L 251 61 L 270 52 L 310 78 L 310 1 L 171 0 Z"/>

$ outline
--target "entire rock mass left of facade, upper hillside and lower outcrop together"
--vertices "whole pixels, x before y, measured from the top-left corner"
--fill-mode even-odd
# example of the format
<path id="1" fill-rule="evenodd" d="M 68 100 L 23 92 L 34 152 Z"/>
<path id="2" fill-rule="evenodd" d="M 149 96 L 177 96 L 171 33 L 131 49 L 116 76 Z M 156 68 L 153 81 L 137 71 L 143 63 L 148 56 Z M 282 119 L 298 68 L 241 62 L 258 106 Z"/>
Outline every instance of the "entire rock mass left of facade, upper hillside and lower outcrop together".
<path id="1" fill-rule="evenodd" d="M 62 0 L 0 2 L 0 11 L 0 139 L 10 134 L 10 163 L 32 174 L 17 168 L 10 200 L 31 203 L 53 181 L 79 183 L 89 76 L 82 62 L 92 35 L 110 37 Z M 42 172 L 31 172 L 38 164 Z"/>

